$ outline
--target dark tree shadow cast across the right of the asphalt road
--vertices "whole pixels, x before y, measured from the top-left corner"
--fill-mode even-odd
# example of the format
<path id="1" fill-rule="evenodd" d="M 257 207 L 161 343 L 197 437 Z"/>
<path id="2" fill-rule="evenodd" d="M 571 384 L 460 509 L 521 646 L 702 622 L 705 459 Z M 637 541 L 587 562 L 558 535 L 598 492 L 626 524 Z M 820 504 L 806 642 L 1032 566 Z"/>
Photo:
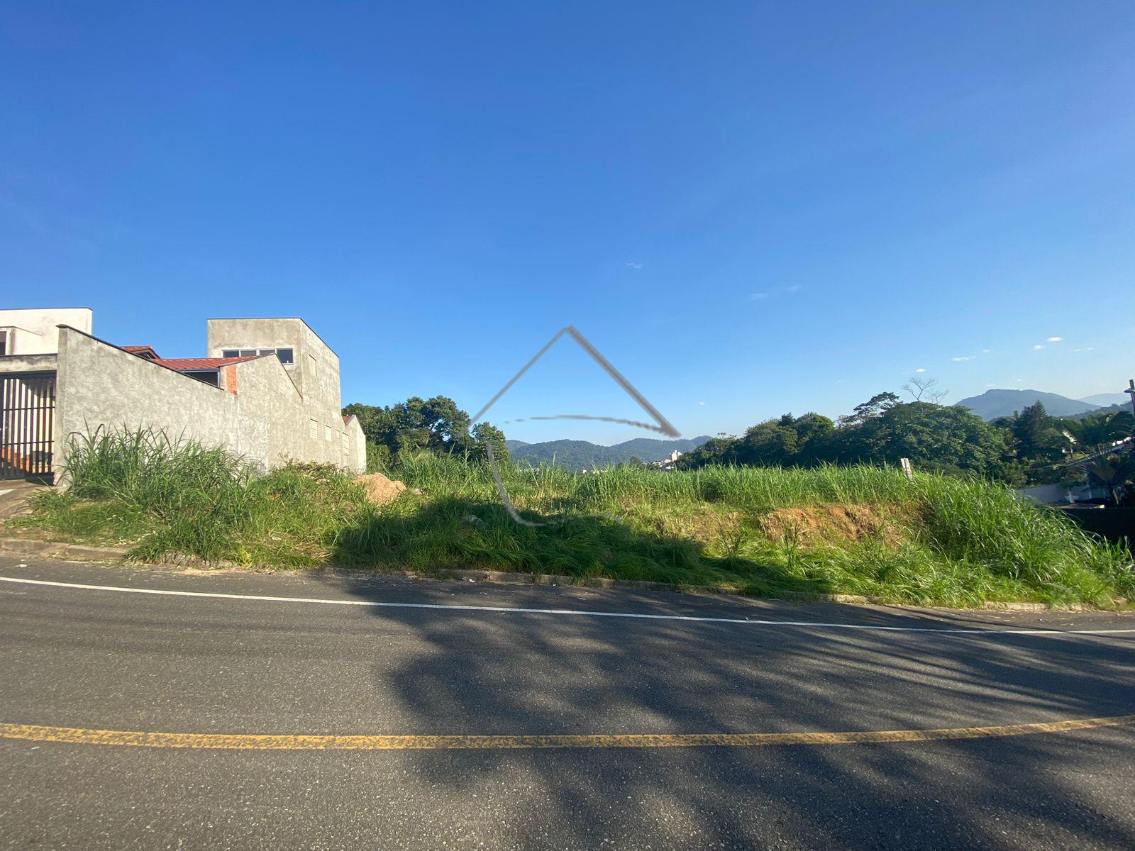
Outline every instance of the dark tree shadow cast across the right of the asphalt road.
<path id="1" fill-rule="evenodd" d="M 466 511 L 443 506 L 439 511 Z M 419 519 L 428 533 L 437 517 Z M 602 521 L 595 521 L 602 522 Z M 667 546 L 622 528 L 629 551 Z M 552 571 L 555 572 L 555 571 Z M 387 589 L 326 578 L 360 599 Z M 573 588 L 423 583 L 423 599 L 874 626 L 900 609 Z M 377 692 L 417 734 L 751 733 L 1019 724 L 1135 711 L 1135 647 L 1104 637 L 935 635 L 549 614 L 368 609 Z M 384 655 L 382 641 L 398 641 Z M 420 751 L 468 803 L 490 791 L 516 848 L 1133 848 L 1127 728 L 854 745 Z M 486 804 L 488 806 L 488 804 Z M 498 804 L 499 806 L 499 804 Z M 540 836 L 530 827 L 540 825 Z M 1043 837 L 1043 842 L 1042 842 Z M 488 843 L 491 844 L 491 843 Z"/>

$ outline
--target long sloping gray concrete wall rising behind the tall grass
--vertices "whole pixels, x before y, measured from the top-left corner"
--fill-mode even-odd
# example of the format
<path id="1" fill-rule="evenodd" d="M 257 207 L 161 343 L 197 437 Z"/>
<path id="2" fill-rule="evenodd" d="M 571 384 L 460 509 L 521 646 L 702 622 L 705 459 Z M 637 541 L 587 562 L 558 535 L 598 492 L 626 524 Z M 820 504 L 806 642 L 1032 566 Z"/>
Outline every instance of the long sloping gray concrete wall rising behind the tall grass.
<path id="1" fill-rule="evenodd" d="M 212 387 L 74 329 L 60 329 L 57 470 L 70 437 L 100 426 L 145 427 L 170 438 L 224 446 L 262 470 L 288 461 L 365 469 L 358 422 L 345 423 L 338 408 L 328 410 L 326 398 L 305 398 L 294 373 L 274 355 L 222 369 L 225 387 Z"/>

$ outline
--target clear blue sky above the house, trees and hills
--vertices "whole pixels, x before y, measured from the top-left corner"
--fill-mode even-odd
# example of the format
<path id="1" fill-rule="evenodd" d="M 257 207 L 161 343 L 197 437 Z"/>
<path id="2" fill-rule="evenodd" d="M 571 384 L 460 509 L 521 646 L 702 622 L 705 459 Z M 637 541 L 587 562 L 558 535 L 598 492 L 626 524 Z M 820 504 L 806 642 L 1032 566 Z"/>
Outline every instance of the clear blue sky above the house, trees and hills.
<path id="1" fill-rule="evenodd" d="M 5 9 L 3 306 L 114 343 L 472 412 L 572 323 L 689 436 L 1135 373 L 1129 2 Z M 489 419 L 552 413 L 640 414 L 564 340 Z"/>

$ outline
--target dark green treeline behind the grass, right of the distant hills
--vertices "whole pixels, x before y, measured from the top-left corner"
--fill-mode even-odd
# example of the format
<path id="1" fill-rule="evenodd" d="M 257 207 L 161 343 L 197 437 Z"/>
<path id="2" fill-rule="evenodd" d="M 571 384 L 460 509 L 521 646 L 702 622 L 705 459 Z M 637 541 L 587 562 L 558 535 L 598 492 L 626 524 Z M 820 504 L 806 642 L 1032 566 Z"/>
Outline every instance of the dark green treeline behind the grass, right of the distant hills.
<path id="1" fill-rule="evenodd" d="M 1126 412 L 1066 420 L 1049 416 L 1040 403 L 985 422 L 964 407 L 903 403 L 893 393 L 881 393 L 835 421 L 815 413 L 784 414 L 740 437 L 715 438 L 682 456 L 679 466 L 898 464 L 906 457 L 923 470 L 976 473 L 1019 487 L 1066 480 L 1068 461 L 1105 452 L 1132 426 Z M 1103 463 L 1120 467 L 1120 480 L 1135 474 L 1125 472 L 1129 462 L 1124 457 Z"/>

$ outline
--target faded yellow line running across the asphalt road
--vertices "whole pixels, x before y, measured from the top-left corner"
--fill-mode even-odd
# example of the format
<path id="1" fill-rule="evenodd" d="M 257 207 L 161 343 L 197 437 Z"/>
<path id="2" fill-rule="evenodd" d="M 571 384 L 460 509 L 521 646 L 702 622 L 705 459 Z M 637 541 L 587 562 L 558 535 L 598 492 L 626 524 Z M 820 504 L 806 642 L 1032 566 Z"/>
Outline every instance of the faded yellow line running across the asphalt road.
<path id="1" fill-rule="evenodd" d="M 999 739 L 1135 724 L 1135 715 L 1037 724 L 942 730 L 878 730 L 842 733 L 688 733 L 583 735 L 308 735 L 247 733 L 148 733 L 0 723 L 0 739 L 132 748 L 221 750 L 519 750 L 533 748 L 757 748 L 785 744 L 871 744 Z"/>

